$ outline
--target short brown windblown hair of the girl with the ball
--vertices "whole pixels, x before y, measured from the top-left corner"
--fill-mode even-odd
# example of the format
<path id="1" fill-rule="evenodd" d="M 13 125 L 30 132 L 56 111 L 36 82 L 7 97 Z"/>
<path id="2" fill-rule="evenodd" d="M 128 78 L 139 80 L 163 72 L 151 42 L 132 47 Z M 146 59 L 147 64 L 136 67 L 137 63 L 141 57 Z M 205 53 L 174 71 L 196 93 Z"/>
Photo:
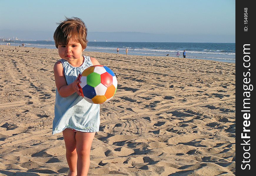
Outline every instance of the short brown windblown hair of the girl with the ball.
<path id="1" fill-rule="evenodd" d="M 72 17 L 67 18 L 61 23 L 57 23 L 59 26 L 56 28 L 53 38 L 56 48 L 58 45 L 67 45 L 69 39 L 80 43 L 82 48 L 87 46 L 87 28 L 84 22 L 80 18 Z"/>

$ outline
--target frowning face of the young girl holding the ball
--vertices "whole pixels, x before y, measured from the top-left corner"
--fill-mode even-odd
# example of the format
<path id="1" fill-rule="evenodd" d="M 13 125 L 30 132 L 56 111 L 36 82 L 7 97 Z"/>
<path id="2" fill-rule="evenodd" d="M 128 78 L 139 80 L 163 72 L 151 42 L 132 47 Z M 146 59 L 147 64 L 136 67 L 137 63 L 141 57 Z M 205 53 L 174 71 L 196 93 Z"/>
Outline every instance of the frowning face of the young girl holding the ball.
<path id="1" fill-rule="evenodd" d="M 83 51 L 82 45 L 75 42 L 72 38 L 67 45 L 58 45 L 59 56 L 67 61 L 82 59 Z"/>

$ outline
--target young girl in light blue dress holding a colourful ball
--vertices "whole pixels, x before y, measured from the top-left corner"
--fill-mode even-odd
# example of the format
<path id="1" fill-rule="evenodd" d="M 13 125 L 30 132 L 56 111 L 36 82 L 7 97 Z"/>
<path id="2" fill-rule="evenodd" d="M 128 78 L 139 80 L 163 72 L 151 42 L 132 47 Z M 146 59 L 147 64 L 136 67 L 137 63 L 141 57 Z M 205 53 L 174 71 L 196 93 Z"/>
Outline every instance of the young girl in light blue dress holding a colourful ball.
<path id="1" fill-rule="evenodd" d="M 56 100 L 52 134 L 62 131 L 68 176 L 86 176 L 95 132 L 99 131 L 99 104 L 81 97 L 78 84 L 82 72 L 99 62 L 82 55 L 87 46 L 87 28 L 79 18 L 66 18 L 54 32 L 54 41 L 61 60 L 54 65 Z"/>

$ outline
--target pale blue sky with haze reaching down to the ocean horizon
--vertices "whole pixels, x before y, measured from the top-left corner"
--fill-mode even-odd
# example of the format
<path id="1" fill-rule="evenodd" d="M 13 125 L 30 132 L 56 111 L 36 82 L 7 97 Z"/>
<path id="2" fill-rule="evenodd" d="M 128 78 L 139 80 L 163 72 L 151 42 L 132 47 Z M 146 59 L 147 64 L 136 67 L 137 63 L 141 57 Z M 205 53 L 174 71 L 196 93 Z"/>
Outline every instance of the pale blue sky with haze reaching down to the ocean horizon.
<path id="1" fill-rule="evenodd" d="M 1 1 L 0 16 L 0 37 L 52 40 L 56 23 L 75 16 L 88 35 L 141 32 L 169 42 L 235 42 L 235 0 L 11 0 Z"/>

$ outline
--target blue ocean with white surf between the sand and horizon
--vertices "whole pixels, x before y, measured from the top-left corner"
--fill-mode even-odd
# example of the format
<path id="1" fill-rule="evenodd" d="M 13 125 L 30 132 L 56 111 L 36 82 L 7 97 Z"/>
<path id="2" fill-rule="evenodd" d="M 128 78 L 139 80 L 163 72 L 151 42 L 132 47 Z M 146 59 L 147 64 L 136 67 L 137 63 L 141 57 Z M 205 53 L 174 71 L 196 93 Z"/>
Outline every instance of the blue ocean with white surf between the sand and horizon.
<path id="1" fill-rule="evenodd" d="M 1 45 L 10 43 L 18 46 L 25 43 L 25 47 L 56 49 L 54 41 L 0 41 Z M 176 57 L 177 51 L 182 56 L 184 50 L 186 58 L 205 59 L 235 63 L 235 43 L 174 43 L 174 42 L 88 42 L 86 51 L 125 54 L 128 48 L 129 55 L 169 56 Z M 168 56 L 167 56 L 168 57 Z"/>

